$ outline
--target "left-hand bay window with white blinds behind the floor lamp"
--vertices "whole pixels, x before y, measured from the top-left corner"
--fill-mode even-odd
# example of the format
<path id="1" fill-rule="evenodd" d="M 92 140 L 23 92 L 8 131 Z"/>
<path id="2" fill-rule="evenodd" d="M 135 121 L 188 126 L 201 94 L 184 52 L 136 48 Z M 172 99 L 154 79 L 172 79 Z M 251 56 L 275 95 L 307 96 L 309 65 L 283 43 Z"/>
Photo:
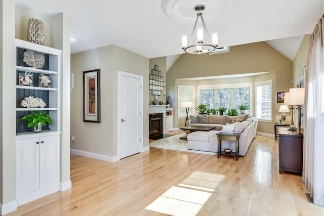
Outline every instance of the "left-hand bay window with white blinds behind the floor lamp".
<path id="1" fill-rule="evenodd" d="M 185 107 L 182 107 L 182 102 L 192 102 L 193 107 L 189 108 L 188 115 L 194 114 L 194 91 L 194 85 L 178 85 L 178 118 L 186 118 L 187 116 Z"/>

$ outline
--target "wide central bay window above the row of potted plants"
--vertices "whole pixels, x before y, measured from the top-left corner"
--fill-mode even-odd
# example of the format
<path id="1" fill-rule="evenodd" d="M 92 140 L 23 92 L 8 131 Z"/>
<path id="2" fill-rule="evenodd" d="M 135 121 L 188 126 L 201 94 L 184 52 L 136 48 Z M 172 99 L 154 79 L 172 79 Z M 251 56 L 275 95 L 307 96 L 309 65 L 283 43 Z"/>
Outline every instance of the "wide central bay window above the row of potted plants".
<path id="1" fill-rule="evenodd" d="M 225 107 L 227 111 L 235 108 L 239 112 L 237 106 L 250 106 L 251 87 L 251 83 L 199 86 L 199 103 L 206 104 L 207 109 Z"/>

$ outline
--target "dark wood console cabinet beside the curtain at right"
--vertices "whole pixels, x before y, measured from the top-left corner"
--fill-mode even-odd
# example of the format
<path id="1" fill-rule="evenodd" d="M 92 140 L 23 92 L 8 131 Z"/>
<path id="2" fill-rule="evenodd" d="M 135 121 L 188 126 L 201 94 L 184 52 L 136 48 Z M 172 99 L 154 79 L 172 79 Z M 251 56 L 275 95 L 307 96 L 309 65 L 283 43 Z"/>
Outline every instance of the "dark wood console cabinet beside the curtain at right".
<path id="1" fill-rule="evenodd" d="M 279 136 L 279 173 L 282 171 L 297 172 L 303 171 L 303 135 L 295 135 L 295 131 L 288 131 L 287 128 L 278 128 Z"/>

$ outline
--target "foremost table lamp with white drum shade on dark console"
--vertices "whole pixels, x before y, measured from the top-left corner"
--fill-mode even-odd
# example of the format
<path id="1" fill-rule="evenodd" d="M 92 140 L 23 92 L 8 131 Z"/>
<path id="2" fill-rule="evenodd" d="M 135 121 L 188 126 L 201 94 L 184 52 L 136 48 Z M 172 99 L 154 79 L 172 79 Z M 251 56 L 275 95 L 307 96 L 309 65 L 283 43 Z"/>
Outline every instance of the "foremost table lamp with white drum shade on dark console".
<path id="1" fill-rule="evenodd" d="M 293 88 L 289 90 L 289 103 L 297 106 L 298 110 L 298 123 L 297 130 L 295 132 L 296 135 L 302 135 L 303 132 L 300 126 L 300 110 L 302 109 L 302 105 L 305 104 L 305 89 L 304 88 Z"/>

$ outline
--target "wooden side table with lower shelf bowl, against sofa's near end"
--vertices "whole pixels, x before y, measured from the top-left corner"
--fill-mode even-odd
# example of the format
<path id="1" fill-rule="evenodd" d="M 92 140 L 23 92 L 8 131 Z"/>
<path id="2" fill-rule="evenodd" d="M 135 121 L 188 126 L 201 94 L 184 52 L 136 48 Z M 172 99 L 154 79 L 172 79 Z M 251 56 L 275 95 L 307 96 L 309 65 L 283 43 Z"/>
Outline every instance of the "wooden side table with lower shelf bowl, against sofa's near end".
<path id="1" fill-rule="evenodd" d="M 241 133 L 220 131 L 220 132 L 217 132 L 216 135 L 218 138 L 217 157 L 219 158 L 220 155 L 228 155 L 228 156 L 234 156 L 234 157 L 236 157 L 236 160 L 238 160 L 239 136 L 241 135 Z M 235 141 L 235 152 L 226 153 L 226 152 L 222 151 L 222 140 Z"/>

